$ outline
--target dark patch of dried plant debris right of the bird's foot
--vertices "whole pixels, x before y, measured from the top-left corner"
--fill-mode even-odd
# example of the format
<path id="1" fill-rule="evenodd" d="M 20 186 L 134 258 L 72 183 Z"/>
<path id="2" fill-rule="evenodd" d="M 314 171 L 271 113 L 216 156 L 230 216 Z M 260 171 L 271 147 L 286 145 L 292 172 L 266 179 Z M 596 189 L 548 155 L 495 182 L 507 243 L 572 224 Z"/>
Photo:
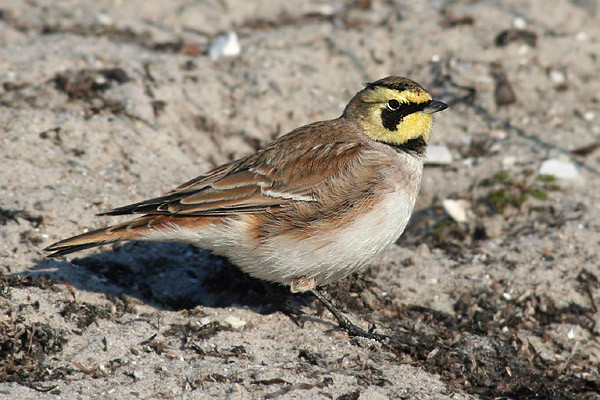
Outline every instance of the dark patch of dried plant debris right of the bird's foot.
<path id="1" fill-rule="evenodd" d="M 583 280 L 597 282 L 581 271 Z M 374 282 L 354 276 L 329 291 L 338 304 L 391 334 L 394 362 L 411 363 L 439 374 L 456 389 L 484 398 L 585 399 L 600 391 L 598 370 L 584 353 L 562 361 L 542 358 L 525 335 L 549 341 L 556 354 L 553 324 L 575 324 L 597 338 L 595 305 L 557 307 L 546 297 L 502 299 L 505 288 L 465 289 L 457 293 L 455 315 L 421 306 L 393 307 L 375 297 Z M 587 288 L 582 288 L 588 291 Z M 365 293 L 368 293 L 365 295 Z M 387 304 L 386 304 L 387 303 Z"/>

